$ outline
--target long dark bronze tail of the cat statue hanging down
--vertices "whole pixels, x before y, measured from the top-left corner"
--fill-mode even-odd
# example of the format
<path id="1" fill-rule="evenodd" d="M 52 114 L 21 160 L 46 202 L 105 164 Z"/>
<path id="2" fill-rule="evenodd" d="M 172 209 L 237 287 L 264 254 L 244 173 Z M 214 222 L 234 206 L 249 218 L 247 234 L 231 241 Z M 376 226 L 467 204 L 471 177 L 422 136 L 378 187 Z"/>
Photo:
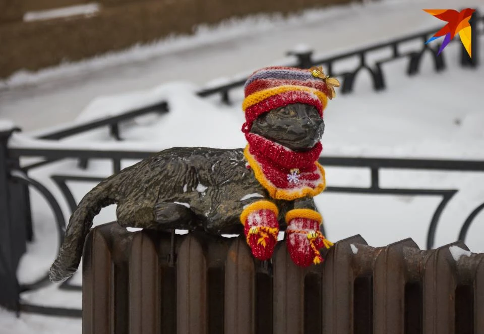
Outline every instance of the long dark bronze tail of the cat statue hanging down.
<path id="1" fill-rule="evenodd" d="M 116 203 L 116 199 L 111 196 L 111 184 L 112 177 L 102 181 L 79 202 L 69 219 L 59 255 L 50 267 L 50 281 L 64 282 L 76 272 L 92 219 L 103 207 Z"/>

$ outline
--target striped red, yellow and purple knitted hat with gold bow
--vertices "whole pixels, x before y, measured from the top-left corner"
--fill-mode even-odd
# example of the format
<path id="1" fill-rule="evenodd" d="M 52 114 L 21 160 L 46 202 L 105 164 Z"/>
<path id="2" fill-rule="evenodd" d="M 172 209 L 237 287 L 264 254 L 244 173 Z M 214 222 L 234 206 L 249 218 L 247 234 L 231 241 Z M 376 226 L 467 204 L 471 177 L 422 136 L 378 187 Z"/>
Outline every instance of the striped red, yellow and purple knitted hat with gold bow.
<path id="1" fill-rule="evenodd" d="M 328 98 L 334 96 L 332 86 L 336 79 L 328 78 L 321 68 L 310 70 L 292 67 L 266 67 L 254 72 L 244 86 L 242 109 L 246 115 L 243 132 L 249 132 L 252 123 L 261 114 L 291 103 L 314 105 L 323 117 Z"/>

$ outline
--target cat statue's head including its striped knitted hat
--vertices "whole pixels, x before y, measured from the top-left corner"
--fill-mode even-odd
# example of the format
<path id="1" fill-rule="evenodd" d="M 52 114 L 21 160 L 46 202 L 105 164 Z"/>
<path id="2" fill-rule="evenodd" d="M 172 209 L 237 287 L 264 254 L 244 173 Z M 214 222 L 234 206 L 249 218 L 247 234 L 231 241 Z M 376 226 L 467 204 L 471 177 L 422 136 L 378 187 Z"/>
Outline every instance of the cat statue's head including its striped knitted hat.
<path id="1" fill-rule="evenodd" d="M 309 150 L 323 136 L 323 111 L 338 86 L 338 80 L 325 75 L 321 67 L 260 69 L 244 86 L 242 131 L 293 151 Z"/>

